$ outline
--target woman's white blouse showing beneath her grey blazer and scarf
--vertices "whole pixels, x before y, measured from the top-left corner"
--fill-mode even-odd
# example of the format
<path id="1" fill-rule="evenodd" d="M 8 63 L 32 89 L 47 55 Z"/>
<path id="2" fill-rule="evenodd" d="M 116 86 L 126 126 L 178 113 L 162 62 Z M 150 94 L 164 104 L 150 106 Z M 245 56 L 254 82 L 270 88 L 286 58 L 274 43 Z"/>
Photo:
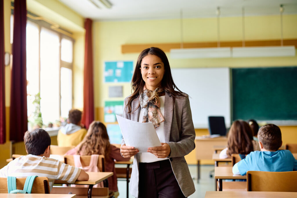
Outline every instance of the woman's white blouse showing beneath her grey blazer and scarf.
<path id="1" fill-rule="evenodd" d="M 165 96 L 159 96 L 159 100 L 160 100 L 160 108 L 159 109 L 160 109 L 162 115 L 164 115 Z M 141 110 L 140 110 L 138 122 L 142 121 L 142 115 L 143 115 L 143 108 L 141 108 Z M 165 143 L 164 122 L 160 123 L 160 126 L 158 126 L 156 128 L 156 132 L 157 132 L 160 142 Z M 146 163 L 154 162 L 154 161 L 162 161 L 162 160 L 167 159 L 167 158 L 157 158 L 154 154 L 149 153 L 149 152 L 139 153 L 139 157 L 140 157 L 140 162 L 146 162 Z"/>

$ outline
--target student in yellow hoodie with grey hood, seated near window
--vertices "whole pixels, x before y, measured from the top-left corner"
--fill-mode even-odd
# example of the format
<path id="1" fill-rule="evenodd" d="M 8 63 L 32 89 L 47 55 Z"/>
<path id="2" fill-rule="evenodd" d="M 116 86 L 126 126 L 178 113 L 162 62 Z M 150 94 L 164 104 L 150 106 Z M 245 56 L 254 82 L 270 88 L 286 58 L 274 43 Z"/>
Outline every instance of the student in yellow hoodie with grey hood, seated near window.
<path id="1" fill-rule="evenodd" d="M 58 132 L 58 146 L 77 146 L 83 140 L 87 130 L 80 126 L 81 113 L 78 109 L 69 111 L 69 123 Z"/>

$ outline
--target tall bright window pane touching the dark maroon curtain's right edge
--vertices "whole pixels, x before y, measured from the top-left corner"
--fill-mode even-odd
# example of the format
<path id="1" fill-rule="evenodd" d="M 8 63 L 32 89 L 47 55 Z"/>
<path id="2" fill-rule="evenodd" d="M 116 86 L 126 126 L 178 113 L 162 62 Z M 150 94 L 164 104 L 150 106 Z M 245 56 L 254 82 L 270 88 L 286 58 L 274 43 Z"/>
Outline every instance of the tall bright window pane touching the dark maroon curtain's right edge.
<path id="1" fill-rule="evenodd" d="M 27 108 L 28 119 L 34 125 L 35 105 L 33 101 L 38 90 L 38 52 L 39 52 L 39 30 L 35 23 L 27 21 L 26 26 L 26 61 L 27 61 Z M 29 125 L 29 129 L 31 129 Z"/>

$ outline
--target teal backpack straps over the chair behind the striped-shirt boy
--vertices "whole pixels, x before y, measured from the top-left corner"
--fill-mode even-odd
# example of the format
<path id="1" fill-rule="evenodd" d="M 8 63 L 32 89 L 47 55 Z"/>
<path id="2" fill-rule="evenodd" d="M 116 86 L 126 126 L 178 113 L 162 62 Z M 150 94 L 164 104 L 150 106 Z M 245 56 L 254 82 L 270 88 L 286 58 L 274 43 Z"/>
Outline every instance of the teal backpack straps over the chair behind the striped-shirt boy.
<path id="1" fill-rule="evenodd" d="M 26 178 L 25 181 L 25 185 L 24 185 L 24 189 L 23 190 L 18 190 L 17 189 L 17 183 L 16 177 L 7 177 L 7 189 L 8 189 L 8 193 L 31 193 L 32 190 L 32 186 L 33 186 L 33 182 L 35 180 L 35 178 L 37 178 L 38 176 L 28 176 Z"/>

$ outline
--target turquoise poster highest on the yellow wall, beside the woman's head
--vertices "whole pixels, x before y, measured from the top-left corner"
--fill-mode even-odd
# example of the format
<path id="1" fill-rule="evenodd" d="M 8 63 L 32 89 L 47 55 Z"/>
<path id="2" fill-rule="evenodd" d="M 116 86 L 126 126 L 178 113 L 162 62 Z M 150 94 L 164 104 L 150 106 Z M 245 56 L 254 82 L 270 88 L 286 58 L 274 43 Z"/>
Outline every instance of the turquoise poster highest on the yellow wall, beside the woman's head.
<path id="1" fill-rule="evenodd" d="M 131 82 L 133 75 L 133 61 L 105 61 L 104 82 Z"/>

